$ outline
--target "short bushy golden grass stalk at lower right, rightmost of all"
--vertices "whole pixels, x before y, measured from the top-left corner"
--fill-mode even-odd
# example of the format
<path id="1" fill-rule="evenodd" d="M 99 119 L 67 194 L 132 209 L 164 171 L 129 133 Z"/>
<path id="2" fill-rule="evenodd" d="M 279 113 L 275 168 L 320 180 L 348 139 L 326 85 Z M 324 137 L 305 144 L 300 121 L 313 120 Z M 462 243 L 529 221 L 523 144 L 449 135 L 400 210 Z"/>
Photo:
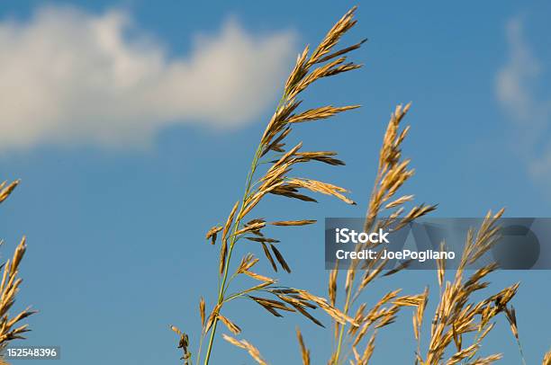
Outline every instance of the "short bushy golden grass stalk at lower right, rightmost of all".
<path id="1" fill-rule="evenodd" d="M 504 313 L 510 322 L 511 332 L 519 343 L 519 333 L 514 308 L 508 307 L 510 300 L 515 296 L 519 284 L 514 284 L 502 289 L 499 293 L 485 298 L 477 303 L 469 303 L 469 299 L 475 291 L 484 289 L 488 283 L 483 280 L 488 274 L 497 269 L 496 264 L 488 264 L 474 272 L 468 280 L 464 280 L 465 269 L 485 254 L 497 242 L 499 227 L 496 222 L 503 213 L 503 209 L 495 215 L 489 212 L 483 220 L 476 235 L 469 231 L 465 250 L 461 257 L 459 267 L 456 270 L 454 280 L 447 281 L 432 321 L 430 329 L 429 351 L 423 360 L 418 354 L 420 364 L 440 364 L 449 345 L 454 343 L 456 353 L 447 360 L 447 364 L 455 364 L 460 361 L 469 363 L 489 364 L 501 359 L 501 355 L 492 355 L 487 358 L 473 360 L 474 355 L 480 349 L 483 338 L 492 331 L 493 317 Z M 438 280 L 444 276 L 443 269 L 438 270 Z M 463 336 L 475 334 L 474 343 L 464 347 Z M 520 355 L 524 362 L 524 356 L 519 343 Z"/>

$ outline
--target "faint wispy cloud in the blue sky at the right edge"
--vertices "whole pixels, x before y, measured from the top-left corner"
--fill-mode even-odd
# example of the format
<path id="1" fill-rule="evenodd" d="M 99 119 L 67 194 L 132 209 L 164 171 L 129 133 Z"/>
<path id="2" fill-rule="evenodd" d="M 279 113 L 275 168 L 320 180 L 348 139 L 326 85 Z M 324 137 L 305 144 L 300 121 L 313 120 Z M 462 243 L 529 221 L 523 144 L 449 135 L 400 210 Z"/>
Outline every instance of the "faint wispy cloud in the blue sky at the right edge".
<path id="1" fill-rule="evenodd" d="M 527 160 L 528 172 L 537 181 L 551 180 L 551 100 L 537 93 L 544 68 L 524 35 L 522 18 L 507 24 L 509 55 L 496 78 L 501 107 L 514 122 L 519 153 Z"/>

